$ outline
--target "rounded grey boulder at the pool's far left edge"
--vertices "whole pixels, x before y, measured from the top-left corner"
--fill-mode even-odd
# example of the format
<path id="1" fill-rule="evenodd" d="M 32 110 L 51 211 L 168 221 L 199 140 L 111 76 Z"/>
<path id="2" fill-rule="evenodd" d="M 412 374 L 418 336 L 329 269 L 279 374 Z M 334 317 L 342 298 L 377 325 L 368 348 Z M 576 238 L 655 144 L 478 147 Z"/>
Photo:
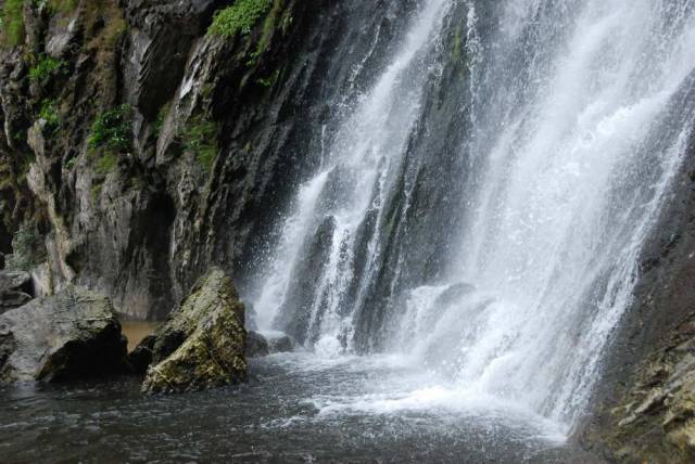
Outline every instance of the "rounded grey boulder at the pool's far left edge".
<path id="1" fill-rule="evenodd" d="M 126 355 L 111 301 L 84 288 L 68 287 L 0 315 L 0 383 L 121 373 Z"/>

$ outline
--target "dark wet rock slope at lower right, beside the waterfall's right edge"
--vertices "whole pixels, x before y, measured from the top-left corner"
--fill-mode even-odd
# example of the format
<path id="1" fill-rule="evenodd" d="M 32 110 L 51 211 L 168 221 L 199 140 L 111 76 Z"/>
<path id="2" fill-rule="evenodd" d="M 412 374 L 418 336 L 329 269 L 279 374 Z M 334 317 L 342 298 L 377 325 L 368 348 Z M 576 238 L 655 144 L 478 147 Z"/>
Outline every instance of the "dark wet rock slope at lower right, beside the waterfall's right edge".
<path id="1" fill-rule="evenodd" d="M 586 448 L 618 461 L 695 462 L 695 140 L 690 146 L 579 431 Z"/>

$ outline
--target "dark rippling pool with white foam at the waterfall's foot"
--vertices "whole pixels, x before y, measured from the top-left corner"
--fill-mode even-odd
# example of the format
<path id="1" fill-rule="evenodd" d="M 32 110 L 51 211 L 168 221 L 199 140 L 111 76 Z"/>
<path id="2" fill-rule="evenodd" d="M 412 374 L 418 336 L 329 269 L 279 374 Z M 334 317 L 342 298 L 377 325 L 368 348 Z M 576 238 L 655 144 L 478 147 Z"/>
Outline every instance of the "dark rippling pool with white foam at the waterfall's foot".
<path id="1" fill-rule="evenodd" d="M 598 462 L 500 411 L 394 394 L 424 378 L 397 362 L 306 358 L 253 361 L 247 386 L 172 397 L 142 396 L 136 379 L 4 388 L 0 461 Z"/>

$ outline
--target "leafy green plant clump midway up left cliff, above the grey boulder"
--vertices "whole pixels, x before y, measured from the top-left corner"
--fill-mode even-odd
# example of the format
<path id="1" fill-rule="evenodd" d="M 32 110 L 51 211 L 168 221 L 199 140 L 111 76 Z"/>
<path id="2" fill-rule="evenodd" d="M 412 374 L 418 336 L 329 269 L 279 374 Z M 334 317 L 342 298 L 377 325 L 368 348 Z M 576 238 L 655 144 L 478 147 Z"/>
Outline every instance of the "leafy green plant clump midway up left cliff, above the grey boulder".
<path id="1" fill-rule="evenodd" d="M 87 140 L 92 151 L 128 153 L 132 150 L 132 108 L 124 104 L 100 114 Z"/>

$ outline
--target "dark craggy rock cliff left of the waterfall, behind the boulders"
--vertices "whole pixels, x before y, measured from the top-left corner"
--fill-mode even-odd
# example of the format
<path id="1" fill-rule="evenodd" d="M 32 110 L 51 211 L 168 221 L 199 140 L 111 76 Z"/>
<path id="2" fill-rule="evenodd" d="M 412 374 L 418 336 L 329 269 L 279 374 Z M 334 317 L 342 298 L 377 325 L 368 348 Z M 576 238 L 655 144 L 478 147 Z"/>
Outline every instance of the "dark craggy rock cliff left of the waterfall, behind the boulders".
<path id="1" fill-rule="evenodd" d="M 321 121 L 371 82 L 415 5 L 276 0 L 249 35 L 207 35 L 229 3 L 25 2 L 24 43 L 0 51 L 0 252 L 37 229 L 41 288 L 76 282 L 143 319 L 165 317 L 211 265 L 243 292 L 318 162 Z M 47 59 L 58 69 L 37 79 Z M 41 119 L 47 102 L 60 123 Z M 132 144 L 110 156 L 88 140 L 123 104 Z"/>

